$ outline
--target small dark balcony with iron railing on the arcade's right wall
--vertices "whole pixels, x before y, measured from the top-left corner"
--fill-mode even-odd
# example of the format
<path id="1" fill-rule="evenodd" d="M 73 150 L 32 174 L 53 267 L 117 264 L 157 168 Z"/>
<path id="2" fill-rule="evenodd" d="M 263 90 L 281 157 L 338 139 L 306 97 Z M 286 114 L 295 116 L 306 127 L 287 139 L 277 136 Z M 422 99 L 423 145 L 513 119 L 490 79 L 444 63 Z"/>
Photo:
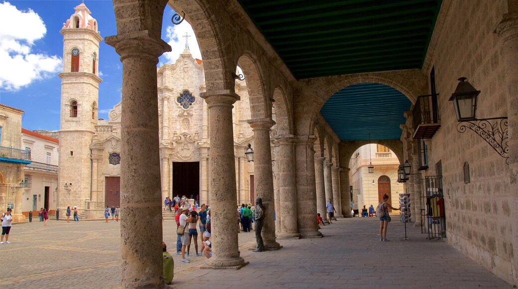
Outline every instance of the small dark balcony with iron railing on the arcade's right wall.
<path id="1" fill-rule="evenodd" d="M 437 95 L 419 96 L 412 111 L 414 138 L 432 138 L 441 127 Z"/>

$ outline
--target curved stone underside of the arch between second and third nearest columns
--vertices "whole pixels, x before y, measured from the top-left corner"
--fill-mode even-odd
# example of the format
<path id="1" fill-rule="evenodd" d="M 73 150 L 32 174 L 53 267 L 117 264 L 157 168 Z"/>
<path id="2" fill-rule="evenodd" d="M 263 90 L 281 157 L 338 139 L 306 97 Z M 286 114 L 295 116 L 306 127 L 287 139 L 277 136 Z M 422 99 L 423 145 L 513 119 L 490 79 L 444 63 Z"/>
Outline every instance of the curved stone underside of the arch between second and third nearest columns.
<path id="1" fill-rule="evenodd" d="M 251 119 L 271 119 L 270 101 L 266 101 L 261 66 L 257 65 L 255 56 L 249 52 L 239 57 L 237 65 L 241 67 L 244 81 L 247 83 L 248 97 L 250 98 Z"/>

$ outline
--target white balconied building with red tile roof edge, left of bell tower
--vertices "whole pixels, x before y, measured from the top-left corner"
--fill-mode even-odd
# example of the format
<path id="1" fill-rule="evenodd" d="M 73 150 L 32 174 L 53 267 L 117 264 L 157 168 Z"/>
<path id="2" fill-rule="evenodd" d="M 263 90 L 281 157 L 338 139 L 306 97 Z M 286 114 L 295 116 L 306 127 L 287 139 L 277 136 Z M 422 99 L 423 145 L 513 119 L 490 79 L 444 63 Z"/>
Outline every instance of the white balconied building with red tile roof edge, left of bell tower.
<path id="1" fill-rule="evenodd" d="M 24 167 L 22 213 L 40 208 L 51 213 L 56 209 L 57 164 L 59 140 L 22 128 L 22 147 L 31 152 L 31 164 Z"/>

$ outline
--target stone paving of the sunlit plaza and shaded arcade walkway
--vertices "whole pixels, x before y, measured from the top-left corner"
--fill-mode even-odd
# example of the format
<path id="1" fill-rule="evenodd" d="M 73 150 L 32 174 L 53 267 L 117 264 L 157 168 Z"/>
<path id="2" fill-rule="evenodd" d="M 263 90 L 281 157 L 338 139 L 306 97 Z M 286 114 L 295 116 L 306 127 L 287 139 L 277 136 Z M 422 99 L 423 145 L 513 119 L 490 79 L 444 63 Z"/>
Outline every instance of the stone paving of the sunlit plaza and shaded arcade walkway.
<path id="1" fill-rule="evenodd" d="M 323 226 L 324 238 L 278 240 L 278 251 L 254 253 L 255 234 L 240 233 L 240 270 L 200 269 L 204 256 L 191 263 L 176 255 L 174 221 L 164 221 L 164 241 L 175 260 L 177 288 L 476 288 L 512 286 L 448 245 L 426 240 L 421 228 L 389 225 L 380 242 L 377 218 L 338 219 Z M 236 225 L 237 226 L 237 225 Z M 120 223 L 49 220 L 15 224 L 10 244 L 0 245 L 0 287 L 119 287 Z"/>

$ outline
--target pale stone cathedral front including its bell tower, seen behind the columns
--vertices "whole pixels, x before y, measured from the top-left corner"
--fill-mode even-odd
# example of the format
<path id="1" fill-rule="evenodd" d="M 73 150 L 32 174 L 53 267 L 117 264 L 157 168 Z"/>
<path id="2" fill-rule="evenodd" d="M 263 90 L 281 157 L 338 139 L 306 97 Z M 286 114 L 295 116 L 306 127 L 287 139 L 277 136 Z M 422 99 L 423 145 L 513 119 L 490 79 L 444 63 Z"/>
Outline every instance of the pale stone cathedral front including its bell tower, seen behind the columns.
<path id="1" fill-rule="evenodd" d="M 57 207 L 78 206 L 85 218 L 100 218 L 105 206 L 120 206 L 122 102 L 109 119 L 97 115 L 97 22 L 84 4 L 64 23 L 59 186 Z M 186 47 L 187 48 L 187 47 Z M 185 49 L 174 64 L 157 68 L 162 199 L 185 195 L 209 203 L 208 162 L 211 133 L 203 61 Z M 237 73 L 237 71 L 236 71 Z M 238 73 L 237 73 L 238 74 Z M 241 100 L 234 105 L 233 128 L 238 203 L 253 203 L 253 147 L 250 103 L 245 80 L 236 79 Z M 142 103 L 142 105 L 146 105 Z M 140 153 L 146 154 L 146 150 Z M 64 188 L 67 184 L 67 188 Z"/>

